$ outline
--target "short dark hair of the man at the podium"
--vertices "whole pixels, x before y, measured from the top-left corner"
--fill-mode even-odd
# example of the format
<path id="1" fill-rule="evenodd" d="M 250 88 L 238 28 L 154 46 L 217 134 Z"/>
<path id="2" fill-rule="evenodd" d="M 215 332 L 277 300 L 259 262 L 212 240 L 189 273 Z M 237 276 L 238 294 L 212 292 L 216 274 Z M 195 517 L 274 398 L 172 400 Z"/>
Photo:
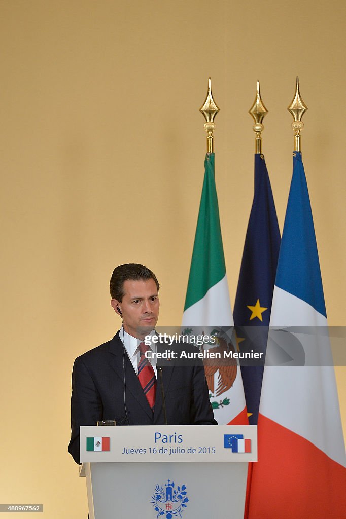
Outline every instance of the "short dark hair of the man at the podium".
<path id="1" fill-rule="evenodd" d="M 152 270 L 140 263 L 125 263 L 119 265 L 113 270 L 110 281 L 110 290 L 112 299 L 116 299 L 119 303 L 122 302 L 124 296 L 124 283 L 128 280 L 133 281 L 148 281 L 153 279 L 156 284 L 157 292 L 160 288 L 156 276 Z"/>

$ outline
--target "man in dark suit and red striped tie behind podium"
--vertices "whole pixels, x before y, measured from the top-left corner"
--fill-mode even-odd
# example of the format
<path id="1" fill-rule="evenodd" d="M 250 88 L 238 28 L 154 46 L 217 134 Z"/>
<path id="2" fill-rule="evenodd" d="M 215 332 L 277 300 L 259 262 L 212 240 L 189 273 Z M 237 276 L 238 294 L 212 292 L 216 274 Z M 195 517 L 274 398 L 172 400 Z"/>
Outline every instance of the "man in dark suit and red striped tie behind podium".
<path id="1" fill-rule="evenodd" d="M 79 427 L 98 420 L 116 420 L 117 425 L 217 425 L 201 360 L 184 366 L 172 360 L 160 368 L 150 361 L 152 352 L 145 354 L 144 337 L 155 334 L 158 319 L 155 274 L 137 263 L 120 265 L 110 289 L 122 329 L 73 366 L 69 452 L 77 463 Z"/>

